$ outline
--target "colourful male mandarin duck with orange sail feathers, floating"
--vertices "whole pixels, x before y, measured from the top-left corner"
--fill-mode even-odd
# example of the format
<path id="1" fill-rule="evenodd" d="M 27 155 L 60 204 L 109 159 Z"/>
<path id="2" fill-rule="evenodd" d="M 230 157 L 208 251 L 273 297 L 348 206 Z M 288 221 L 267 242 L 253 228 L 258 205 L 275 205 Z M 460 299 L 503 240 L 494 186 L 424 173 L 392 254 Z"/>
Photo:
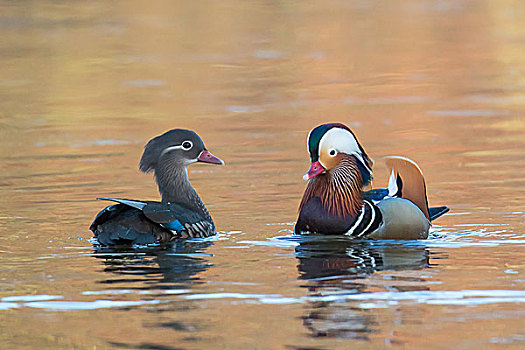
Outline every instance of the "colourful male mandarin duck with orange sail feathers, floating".
<path id="1" fill-rule="evenodd" d="M 370 239 L 424 239 L 430 221 L 448 208 L 428 208 L 421 169 L 404 157 L 387 157 L 388 189 L 364 191 L 373 161 L 354 133 L 339 123 L 308 135 L 312 164 L 299 206 L 295 233 L 348 235 Z"/>

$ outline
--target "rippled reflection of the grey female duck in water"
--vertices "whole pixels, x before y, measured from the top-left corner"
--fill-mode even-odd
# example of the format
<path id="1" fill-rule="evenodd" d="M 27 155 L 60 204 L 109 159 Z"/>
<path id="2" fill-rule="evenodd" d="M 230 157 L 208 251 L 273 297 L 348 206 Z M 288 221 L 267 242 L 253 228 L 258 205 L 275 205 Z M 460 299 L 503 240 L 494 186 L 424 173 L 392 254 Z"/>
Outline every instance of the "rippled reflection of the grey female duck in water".
<path id="1" fill-rule="evenodd" d="M 156 317 L 147 318 L 144 327 L 169 329 L 181 337 L 189 339 L 206 325 L 202 320 L 188 317 L 188 312 L 196 308 L 195 303 L 174 297 L 188 293 L 205 280 L 199 275 L 212 267 L 206 250 L 213 242 L 209 240 L 172 241 L 157 248 L 137 247 L 95 247 L 93 257 L 103 265 L 103 278 L 100 284 L 106 286 L 108 294 L 135 294 L 140 300 L 158 300 L 149 310 Z M 103 294 L 104 291 L 101 291 Z M 110 348 L 124 349 L 175 349 L 156 342 L 108 342 Z"/>

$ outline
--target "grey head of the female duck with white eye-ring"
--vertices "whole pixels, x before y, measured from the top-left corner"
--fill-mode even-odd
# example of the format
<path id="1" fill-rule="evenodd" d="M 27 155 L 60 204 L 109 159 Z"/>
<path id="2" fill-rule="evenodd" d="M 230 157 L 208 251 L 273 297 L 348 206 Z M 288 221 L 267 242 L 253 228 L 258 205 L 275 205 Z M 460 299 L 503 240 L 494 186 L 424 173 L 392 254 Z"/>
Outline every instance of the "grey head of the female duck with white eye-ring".
<path id="1" fill-rule="evenodd" d="M 139 167 L 147 173 L 156 171 L 162 164 L 186 167 L 195 162 L 224 165 L 221 159 L 206 149 L 197 133 L 186 129 L 173 129 L 147 143 Z"/>

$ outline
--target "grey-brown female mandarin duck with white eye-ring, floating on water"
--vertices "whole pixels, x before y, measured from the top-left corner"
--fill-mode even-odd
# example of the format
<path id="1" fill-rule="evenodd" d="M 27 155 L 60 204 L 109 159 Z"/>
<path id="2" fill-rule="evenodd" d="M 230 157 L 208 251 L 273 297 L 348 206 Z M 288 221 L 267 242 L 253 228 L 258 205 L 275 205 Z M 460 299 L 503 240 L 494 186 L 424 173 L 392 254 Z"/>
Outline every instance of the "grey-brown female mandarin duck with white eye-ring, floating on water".
<path id="1" fill-rule="evenodd" d="M 188 179 L 187 167 L 195 162 L 224 165 L 191 130 L 173 129 L 150 140 L 139 167 L 155 173 L 162 201 L 99 198 L 118 204 L 104 208 L 91 224 L 98 242 L 150 244 L 214 235 L 213 219 Z"/>

